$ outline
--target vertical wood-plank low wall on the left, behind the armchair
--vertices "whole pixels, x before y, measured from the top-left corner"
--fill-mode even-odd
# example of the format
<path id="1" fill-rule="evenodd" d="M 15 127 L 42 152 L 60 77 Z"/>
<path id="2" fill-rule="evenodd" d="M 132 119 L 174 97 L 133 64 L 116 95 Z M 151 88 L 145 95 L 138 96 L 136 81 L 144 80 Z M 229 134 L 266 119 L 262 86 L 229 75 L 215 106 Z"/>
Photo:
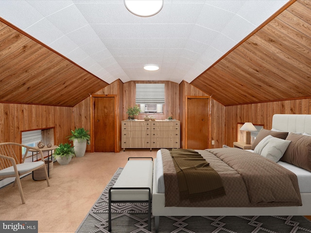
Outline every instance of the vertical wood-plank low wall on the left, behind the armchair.
<path id="1" fill-rule="evenodd" d="M 54 128 L 58 145 L 68 142 L 72 123 L 71 107 L 0 103 L 0 142 L 21 143 L 22 131 Z"/>

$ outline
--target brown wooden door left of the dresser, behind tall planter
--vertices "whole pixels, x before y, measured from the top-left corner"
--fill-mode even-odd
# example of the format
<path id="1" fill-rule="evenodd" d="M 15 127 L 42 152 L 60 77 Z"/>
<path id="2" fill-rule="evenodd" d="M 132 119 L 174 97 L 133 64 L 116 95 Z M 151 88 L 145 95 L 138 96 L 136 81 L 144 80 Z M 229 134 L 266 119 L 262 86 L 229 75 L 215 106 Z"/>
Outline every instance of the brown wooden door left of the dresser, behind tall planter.
<path id="1" fill-rule="evenodd" d="M 94 152 L 115 152 L 115 98 L 94 97 Z"/>

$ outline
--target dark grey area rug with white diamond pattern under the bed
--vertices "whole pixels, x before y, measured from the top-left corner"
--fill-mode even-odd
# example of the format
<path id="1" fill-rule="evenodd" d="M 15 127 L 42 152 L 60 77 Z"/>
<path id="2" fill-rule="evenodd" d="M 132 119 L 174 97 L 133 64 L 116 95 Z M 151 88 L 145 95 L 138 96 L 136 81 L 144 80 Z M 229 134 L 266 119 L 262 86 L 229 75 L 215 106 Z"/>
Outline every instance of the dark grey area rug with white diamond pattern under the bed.
<path id="1" fill-rule="evenodd" d="M 76 233 L 108 233 L 108 190 L 121 171 L 114 174 Z M 113 204 L 112 212 L 112 233 L 150 233 L 146 204 Z M 154 218 L 151 232 L 155 233 Z M 311 233 L 311 221 L 303 216 L 163 216 L 159 233 Z"/>

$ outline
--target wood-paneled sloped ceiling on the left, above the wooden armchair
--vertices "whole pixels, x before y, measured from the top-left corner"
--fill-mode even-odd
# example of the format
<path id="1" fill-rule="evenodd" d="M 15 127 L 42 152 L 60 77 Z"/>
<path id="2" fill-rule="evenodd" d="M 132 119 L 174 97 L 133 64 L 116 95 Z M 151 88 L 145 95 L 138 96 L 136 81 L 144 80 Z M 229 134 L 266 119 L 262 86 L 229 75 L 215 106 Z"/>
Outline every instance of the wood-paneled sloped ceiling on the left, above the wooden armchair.
<path id="1" fill-rule="evenodd" d="M 0 102 L 74 106 L 108 83 L 0 22 Z"/>

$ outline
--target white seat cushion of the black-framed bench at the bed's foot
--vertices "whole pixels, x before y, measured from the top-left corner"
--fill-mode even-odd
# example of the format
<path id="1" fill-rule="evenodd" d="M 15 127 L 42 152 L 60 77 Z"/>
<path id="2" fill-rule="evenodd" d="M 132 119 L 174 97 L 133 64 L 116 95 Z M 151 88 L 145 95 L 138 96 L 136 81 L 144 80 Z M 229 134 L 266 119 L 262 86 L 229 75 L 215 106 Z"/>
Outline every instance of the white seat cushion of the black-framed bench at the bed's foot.
<path id="1" fill-rule="evenodd" d="M 113 187 L 149 187 L 152 194 L 153 161 L 129 160 L 123 168 Z M 146 190 L 111 190 L 112 201 L 146 201 L 149 191 Z"/>

